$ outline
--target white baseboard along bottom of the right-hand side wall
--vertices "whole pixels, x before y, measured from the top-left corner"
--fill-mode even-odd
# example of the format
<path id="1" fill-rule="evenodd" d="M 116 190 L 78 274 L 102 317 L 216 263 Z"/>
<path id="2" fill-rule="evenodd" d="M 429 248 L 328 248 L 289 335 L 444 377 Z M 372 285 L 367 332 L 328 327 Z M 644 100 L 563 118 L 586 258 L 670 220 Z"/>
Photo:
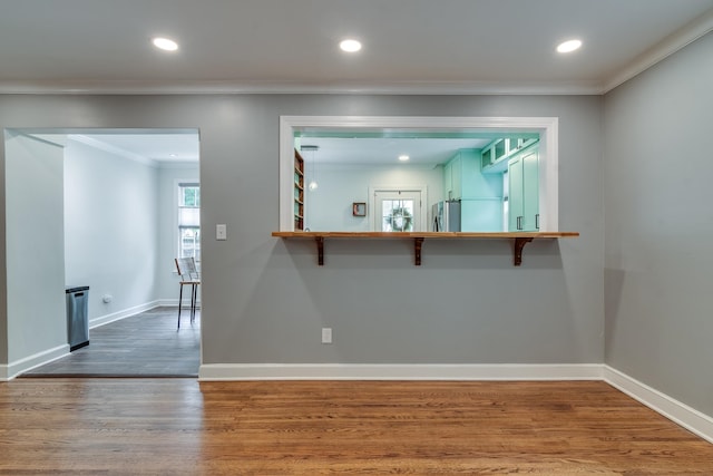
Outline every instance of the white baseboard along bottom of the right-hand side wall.
<path id="1" fill-rule="evenodd" d="M 604 381 L 612 387 L 641 401 L 688 431 L 713 443 L 713 418 L 609 366 L 604 366 L 603 376 Z"/>

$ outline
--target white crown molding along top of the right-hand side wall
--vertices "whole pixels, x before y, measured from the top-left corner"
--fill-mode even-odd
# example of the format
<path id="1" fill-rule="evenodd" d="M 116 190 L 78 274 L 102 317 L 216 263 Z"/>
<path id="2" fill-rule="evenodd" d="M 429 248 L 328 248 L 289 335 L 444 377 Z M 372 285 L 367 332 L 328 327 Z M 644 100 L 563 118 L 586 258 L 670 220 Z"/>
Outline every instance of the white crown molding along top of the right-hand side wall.
<path id="1" fill-rule="evenodd" d="M 636 57 L 623 70 L 605 81 L 602 93 L 606 94 L 623 85 L 711 31 L 713 31 L 713 8 Z"/>

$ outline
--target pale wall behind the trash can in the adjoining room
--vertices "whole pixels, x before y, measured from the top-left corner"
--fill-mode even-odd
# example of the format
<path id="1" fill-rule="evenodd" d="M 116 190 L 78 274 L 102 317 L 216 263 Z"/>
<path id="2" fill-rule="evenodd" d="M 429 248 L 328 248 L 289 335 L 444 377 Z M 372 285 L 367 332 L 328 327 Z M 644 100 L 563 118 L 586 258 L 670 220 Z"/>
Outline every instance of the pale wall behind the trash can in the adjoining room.
<path id="1" fill-rule="evenodd" d="M 65 276 L 89 286 L 90 323 L 157 299 L 157 224 L 158 168 L 68 140 Z"/>

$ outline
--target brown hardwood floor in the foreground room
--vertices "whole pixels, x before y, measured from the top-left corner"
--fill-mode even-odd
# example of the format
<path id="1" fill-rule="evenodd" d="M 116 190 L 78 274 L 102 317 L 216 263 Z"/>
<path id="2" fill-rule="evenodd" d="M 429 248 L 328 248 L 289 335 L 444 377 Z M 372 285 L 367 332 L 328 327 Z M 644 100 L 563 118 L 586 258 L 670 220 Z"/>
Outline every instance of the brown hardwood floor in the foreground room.
<path id="1" fill-rule="evenodd" d="M 0 383 L 0 474 L 711 475 L 713 445 L 604 382 Z"/>

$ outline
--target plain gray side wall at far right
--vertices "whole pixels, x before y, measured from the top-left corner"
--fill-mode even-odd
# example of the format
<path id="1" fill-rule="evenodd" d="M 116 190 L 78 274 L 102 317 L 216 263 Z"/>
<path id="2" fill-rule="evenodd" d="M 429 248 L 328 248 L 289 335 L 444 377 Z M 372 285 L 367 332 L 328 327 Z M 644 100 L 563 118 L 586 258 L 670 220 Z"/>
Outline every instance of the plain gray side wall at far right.
<path id="1" fill-rule="evenodd" d="M 606 362 L 713 415 L 713 35 L 605 97 Z"/>

